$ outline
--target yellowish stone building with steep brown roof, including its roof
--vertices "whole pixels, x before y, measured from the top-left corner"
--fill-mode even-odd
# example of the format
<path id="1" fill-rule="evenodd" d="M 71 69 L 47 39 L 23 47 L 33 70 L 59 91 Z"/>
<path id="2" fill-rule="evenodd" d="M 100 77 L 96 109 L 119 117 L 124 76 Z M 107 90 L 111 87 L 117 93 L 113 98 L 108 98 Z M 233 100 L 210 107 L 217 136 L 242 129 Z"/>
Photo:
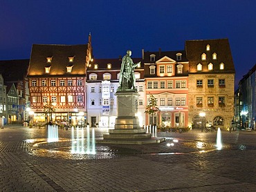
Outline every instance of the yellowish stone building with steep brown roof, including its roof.
<path id="1" fill-rule="evenodd" d="M 186 41 L 185 50 L 190 63 L 189 126 L 229 128 L 234 116 L 235 67 L 228 39 Z"/>

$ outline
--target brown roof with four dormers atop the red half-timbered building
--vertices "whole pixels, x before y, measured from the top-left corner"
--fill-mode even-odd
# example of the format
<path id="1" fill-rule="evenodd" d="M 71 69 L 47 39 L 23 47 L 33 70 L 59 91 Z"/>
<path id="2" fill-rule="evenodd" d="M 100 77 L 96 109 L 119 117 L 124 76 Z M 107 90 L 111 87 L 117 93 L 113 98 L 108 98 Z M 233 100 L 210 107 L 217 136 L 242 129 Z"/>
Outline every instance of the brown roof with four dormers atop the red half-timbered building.
<path id="1" fill-rule="evenodd" d="M 75 46 L 33 44 L 27 76 L 86 75 L 87 48 L 87 44 Z M 51 57 L 51 62 L 47 62 L 47 57 Z M 68 57 L 73 57 L 73 62 L 70 62 Z M 71 73 L 67 72 L 67 66 L 73 66 Z M 46 73 L 46 67 L 51 67 L 50 73 Z"/>

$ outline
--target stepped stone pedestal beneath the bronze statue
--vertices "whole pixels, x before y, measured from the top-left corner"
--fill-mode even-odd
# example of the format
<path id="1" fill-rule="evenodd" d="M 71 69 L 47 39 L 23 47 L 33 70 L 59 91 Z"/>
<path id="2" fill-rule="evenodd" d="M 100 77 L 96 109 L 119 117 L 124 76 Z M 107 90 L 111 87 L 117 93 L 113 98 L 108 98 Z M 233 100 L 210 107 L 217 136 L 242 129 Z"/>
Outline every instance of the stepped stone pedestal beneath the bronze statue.
<path id="1" fill-rule="evenodd" d="M 100 143 L 111 144 L 147 144 L 160 143 L 164 138 L 152 137 L 146 133 L 144 128 L 140 128 L 138 117 L 138 96 L 136 90 L 125 90 L 116 93 L 118 103 L 118 117 L 114 129 L 109 129 L 109 133 L 103 135 Z"/>

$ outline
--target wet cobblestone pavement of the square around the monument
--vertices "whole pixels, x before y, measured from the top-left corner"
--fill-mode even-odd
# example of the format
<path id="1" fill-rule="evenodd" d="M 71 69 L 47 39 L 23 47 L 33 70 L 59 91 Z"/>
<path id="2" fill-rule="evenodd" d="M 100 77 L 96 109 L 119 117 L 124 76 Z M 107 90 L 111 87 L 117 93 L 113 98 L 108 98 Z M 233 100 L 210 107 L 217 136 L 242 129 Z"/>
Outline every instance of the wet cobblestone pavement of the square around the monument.
<path id="1" fill-rule="evenodd" d="M 98 128 L 96 137 L 106 130 Z M 96 144 L 97 154 L 71 154 L 71 131 L 42 145 L 46 129 L 0 129 L 0 191 L 256 191 L 256 131 L 158 133 L 161 144 Z M 174 146 L 174 139 L 179 140 Z M 208 144 L 205 152 L 194 144 Z"/>

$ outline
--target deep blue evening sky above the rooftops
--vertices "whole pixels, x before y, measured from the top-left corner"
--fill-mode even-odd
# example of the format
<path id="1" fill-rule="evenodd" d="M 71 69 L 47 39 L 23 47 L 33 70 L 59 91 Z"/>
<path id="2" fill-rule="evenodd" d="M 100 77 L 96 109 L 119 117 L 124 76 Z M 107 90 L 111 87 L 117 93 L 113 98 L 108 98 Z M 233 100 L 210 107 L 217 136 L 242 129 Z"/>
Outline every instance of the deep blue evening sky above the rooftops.
<path id="1" fill-rule="evenodd" d="M 27 59 L 33 44 L 86 44 L 89 32 L 95 58 L 228 38 L 238 82 L 256 64 L 255 8 L 255 0 L 1 0 L 0 60 Z"/>

